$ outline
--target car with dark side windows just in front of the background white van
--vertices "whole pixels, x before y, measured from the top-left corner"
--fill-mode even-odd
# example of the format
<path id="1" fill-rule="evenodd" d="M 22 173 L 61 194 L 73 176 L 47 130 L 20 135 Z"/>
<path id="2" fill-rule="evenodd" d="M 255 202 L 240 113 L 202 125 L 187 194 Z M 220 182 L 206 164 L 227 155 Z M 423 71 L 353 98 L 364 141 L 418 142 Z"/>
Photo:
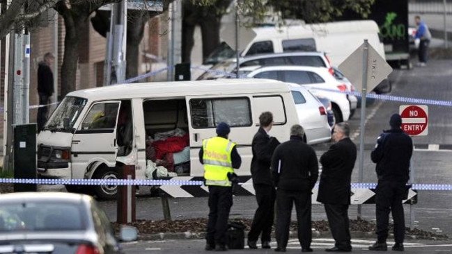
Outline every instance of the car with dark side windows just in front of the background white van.
<path id="1" fill-rule="evenodd" d="M 244 67 L 274 66 L 274 65 L 301 65 L 312 67 L 325 67 L 333 74 L 334 69 L 324 52 L 288 52 L 267 53 L 239 58 L 240 71 Z M 198 77 L 198 81 L 234 76 L 237 68 L 237 58 L 229 58 L 214 65 Z"/>

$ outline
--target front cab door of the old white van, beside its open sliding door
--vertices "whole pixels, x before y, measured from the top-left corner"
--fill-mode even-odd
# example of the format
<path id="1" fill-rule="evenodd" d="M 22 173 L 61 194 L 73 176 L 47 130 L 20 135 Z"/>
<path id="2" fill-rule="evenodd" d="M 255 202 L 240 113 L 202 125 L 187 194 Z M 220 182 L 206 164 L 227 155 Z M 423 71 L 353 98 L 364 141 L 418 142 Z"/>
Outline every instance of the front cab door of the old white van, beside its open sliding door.
<path id="1" fill-rule="evenodd" d="M 88 164 L 116 164 L 116 119 L 120 101 L 99 101 L 91 105 L 72 138 L 72 178 L 84 178 Z"/>

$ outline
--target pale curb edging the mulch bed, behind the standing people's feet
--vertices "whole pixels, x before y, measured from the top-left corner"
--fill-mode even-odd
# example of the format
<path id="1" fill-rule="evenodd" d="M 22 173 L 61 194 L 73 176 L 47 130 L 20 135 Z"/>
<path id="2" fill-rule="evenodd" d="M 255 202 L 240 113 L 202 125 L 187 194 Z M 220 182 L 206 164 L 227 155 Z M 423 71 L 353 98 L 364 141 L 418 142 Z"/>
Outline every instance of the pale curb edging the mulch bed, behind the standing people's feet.
<path id="1" fill-rule="evenodd" d="M 245 231 L 245 236 L 248 235 L 248 231 Z M 362 232 L 362 231 L 352 231 L 350 232 L 352 239 L 377 239 L 377 235 L 375 232 Z M 272 232 L 272 237 L 275 237 L 274 232 Z M 296 231 L 290 231 L 289 237 L 297 238 Z M 314 230 L 312 232 L 313 239 L 315 238 L 332 238 L 332 234 L 329 231 L 317 231 Z M 393 237 L 392 234 L 389 234 L 389 237 Z M 245 237 L 246 238 L 246 237 Z M 405 235 L 406 239 L 416 240 L 449 240 L 449 239 L 437 239 L 436 237 L 419 237 L 416 235 Z M 161 232 L 158 234 L 146 234 L 139 235 L 139 241 L 159 241 L 159 240 L 168 240 L 168 239 L 205 239 L 205 232 Z"/>

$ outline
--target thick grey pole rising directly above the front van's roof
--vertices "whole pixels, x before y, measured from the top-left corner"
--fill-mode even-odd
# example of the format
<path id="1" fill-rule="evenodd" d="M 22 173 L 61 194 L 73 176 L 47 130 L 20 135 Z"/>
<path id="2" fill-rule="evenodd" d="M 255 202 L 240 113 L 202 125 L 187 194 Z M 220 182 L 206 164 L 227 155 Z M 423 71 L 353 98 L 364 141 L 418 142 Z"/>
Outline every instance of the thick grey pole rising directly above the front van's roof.
<path id="1" fill-rule="evenodd" d="M 125 80 L 125 44 L 127 42 L 127 5 L 125 0 L 113 4 L 110 20 L 110 31 L 107 33 L 104 85 L 114 85 Z"/>

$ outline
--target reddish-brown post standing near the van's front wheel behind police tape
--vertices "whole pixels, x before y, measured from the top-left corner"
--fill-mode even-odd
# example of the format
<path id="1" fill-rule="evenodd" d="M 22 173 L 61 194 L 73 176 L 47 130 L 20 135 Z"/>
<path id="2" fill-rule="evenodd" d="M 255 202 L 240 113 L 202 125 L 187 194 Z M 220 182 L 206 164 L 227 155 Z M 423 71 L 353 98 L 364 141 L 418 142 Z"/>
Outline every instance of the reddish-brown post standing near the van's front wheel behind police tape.
<path id="1" fill-rule="evenodd" d="M 134 165 L 123 165 L 120 169 L 120 179 L 135 179 Z M 116 222 L 120 224 L 134 222 L 136 220 L 135 185 L 118 185 L 117 196 L 118 202 L 116 204 Z"/>

